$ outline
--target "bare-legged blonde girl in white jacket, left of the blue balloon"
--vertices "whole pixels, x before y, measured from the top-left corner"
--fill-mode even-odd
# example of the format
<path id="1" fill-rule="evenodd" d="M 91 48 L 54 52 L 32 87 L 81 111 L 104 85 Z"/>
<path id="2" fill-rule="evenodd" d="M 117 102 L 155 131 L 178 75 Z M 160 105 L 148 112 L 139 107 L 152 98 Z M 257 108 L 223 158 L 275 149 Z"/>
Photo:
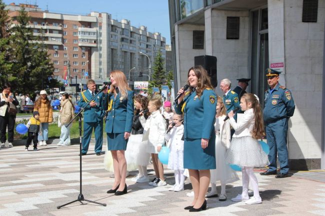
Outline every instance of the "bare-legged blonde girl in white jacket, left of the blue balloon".
<path id="1" fill-rule="evenodd" d="M 153 169 L 156 176 L 149 182 L 149 185 L 155 187 L 166 185 L 163 177 L 163 166 L 158 159 L 158 152 L 160 152 L 164 144 L 166 133 L 166 122 L 159 111 L 161 105 L 160 96 L 154 96 L 149 100 L 148 110 L 150 116 L 145 122 L 142 138 L 142 141 L 148 141 L 146 152 L 151 154 Z"/>

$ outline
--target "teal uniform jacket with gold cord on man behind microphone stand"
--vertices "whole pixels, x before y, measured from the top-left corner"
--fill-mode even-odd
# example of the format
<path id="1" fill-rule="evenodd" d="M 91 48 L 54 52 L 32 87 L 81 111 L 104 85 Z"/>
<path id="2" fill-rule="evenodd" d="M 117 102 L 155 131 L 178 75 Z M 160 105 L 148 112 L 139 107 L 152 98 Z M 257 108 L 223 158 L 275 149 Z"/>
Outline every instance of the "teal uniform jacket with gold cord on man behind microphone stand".
<path id="1" fill-rule="evenodd" d="M 80 100 L 77 101 L 77 105 L 83 108 L 91 99 L 91 93 L 89 90 L 84 90 L 80 94 Z M 102 121 L 105 114 L 105 106 L 107 97 L 104 96 L 102 92 L 100 92 L 94 102 L 96 102 L 96 106 L 90 107 L 88 104 L 83 110 L 83 121 L 84 122 L 100 122 Z"/>

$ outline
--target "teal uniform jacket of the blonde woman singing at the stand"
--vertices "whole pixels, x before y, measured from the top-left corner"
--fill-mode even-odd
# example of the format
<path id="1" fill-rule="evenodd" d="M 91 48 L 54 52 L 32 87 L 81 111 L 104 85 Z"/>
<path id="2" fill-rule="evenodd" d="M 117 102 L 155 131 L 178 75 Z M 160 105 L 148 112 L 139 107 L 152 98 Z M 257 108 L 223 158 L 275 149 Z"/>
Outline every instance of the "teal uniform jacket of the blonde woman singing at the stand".
<path id="1" fill-rule="evenodd" d="M 114 98 L 113 94 L 108 94 L 108 106 L 111 108 L 106 117 L 106 133 L 131 132 L 133 121 L 133 91 L 127 91 L 127 98 L 122 98 L 120 93 Z M 107 107 L 107 106 L 106 106 Z"/>

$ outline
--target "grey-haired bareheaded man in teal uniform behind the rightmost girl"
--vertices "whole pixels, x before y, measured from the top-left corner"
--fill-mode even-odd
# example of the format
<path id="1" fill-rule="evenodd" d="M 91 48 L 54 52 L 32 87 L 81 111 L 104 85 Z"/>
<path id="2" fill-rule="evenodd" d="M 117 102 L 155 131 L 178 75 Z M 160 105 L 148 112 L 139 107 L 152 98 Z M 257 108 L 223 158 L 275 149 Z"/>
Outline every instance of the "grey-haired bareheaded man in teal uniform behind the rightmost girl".
<path id="1" fill-rule="evenodd" d="M 231 91 L 231 81 L 229 79 L 222 79 L 220 82 L 220 89 L 223 92 L 222 101 L 226 109 L 226 113 L 230 112 L 235 108 L 240 108 L 239 106 L 239 96 L 236 92 Z M 233 117 L 234 119 L 237 118 L 237 115 Z"/>

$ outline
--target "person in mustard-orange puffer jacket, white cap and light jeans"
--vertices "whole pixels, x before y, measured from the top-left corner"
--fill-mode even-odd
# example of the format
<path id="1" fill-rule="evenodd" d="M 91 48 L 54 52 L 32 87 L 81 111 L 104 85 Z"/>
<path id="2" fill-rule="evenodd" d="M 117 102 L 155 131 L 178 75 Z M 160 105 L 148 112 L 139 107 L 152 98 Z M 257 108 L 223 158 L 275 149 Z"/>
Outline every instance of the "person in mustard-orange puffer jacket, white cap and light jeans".
<path id="1" fill-rule="evenodd" d="M 42 131 L 38 133 L 39 146 L 46 146 L 48 140 L 48 123 L 53 121 L 52 107 L 47 99 L 47 93 L 45 90 L 41 90 L 40 97 L 35 101 L 34 111 L 39 112 L 39 121 Z"/>

